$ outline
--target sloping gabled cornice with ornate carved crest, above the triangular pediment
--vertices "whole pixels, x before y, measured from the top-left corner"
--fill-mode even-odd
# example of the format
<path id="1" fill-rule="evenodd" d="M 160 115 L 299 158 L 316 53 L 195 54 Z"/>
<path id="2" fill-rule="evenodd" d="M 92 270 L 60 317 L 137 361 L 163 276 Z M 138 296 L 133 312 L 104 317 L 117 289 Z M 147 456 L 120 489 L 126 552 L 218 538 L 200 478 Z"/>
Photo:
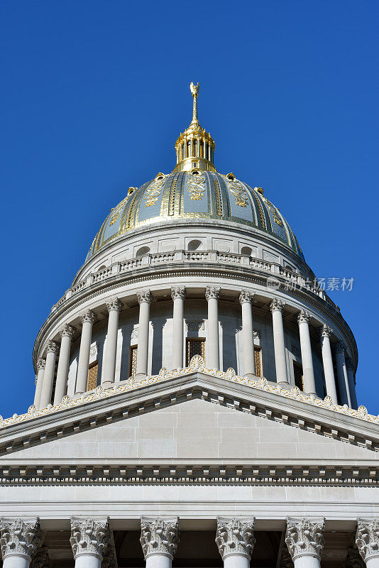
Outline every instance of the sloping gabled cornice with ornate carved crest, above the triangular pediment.
<path id="1" fill-rule="evenodd" d="M 1 420 L 0 454 L 5 458 L 29 446 L 192 398 L 379 451 L 379 416 L 369 415 L 363 406 L 353 410 L 335 405 L 330 397 L 321 400 L 302 394 L 297 387 L 288 391 L 263 378 L 236 376 L 233 369 L 226 373 L 209 369 L 200 356 L 194 356 L 191 366 L 179 371 L 162 369 L 141 381 L 130 379 L 106 390 L 100 386 L 81 398 L 65 396 L 60 405 L 41 410 L 31 406 L 24 415 Z"/>

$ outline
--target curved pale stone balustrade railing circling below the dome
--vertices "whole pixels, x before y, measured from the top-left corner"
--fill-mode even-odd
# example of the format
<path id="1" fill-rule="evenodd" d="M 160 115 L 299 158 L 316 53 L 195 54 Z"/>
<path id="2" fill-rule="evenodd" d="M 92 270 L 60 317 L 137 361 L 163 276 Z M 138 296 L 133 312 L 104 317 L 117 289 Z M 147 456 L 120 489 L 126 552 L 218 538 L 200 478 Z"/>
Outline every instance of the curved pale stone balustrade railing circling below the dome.
<path id="1" fill-rule="evenodd" d="M 165 265 L 168 263 L 215 263 L 215 264 L 231 264 L 239 265 L 242 268 L 253 268 L 256 271 L 262 271 L 268 277 L 272 278 L 272 287 L 275 289 L 275 277 L 280 277 L 278 280 L 278 287 L 283 288 L 281 280 L 285 280 L 284 288 L 286 290 L 295 290 L 304 288 L 328 302 L 333 307 L 336 307 L 334 302 L 331 301 L 329 296 L 326 295 L 324 290 L 319 288 L 317 282 L 314 280 L 307 280 L 301 274 L 290 271 L 288 268 L 283 268 L 280 264 L 263 261 L 259 258 L 252 258 L 251 256 L 244 256 L 243 254 L 234 253 L 220 253 L 218 251 L 175 251 L 172 253 L 157 253 L 146 254 L 139 258 L 131 258 L 129 261 L 116 262 L 107 268 L 103 268 L 99 272 L 89 274 L 84 280 L 77 285 L 69 288 L 64 296 L 62 296 L 51 311 L 57 310 L 66 300 L 73 295 L 82 292 L 84 288 L 88 288 L 92 284 L 97 284 L 111 278 L 114 275 L 127 273 L 129 271 L 138 270 L 139 268 L 146 268 L 148 266 Z"/>

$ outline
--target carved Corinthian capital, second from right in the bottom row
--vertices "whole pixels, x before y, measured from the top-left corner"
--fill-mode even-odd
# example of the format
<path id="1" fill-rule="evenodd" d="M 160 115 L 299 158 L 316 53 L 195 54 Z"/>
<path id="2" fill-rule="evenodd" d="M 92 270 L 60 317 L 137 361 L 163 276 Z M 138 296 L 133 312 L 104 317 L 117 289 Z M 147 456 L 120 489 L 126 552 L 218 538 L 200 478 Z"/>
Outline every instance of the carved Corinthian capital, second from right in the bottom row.
<path id="1" fill-rule="evenodd" d="M 324 548 L 325 519 L 287 518 L 285 544 L 292 560 L 300 556 L 313 556 L 321 559 Z"/>

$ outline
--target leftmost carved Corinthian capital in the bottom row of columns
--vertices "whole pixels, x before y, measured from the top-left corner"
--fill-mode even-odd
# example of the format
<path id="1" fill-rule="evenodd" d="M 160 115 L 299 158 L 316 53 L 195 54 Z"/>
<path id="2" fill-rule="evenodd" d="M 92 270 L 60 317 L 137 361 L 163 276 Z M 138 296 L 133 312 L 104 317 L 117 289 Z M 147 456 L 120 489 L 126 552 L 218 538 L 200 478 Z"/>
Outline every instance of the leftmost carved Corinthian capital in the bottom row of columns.
<path id="1" fill-rule="evenodd" d="M 3 560 L 9 555 L 33 557 L 40 546 L 42 536 L 40 523 L 34 519 L 1 519 L 0 547 Z"/>

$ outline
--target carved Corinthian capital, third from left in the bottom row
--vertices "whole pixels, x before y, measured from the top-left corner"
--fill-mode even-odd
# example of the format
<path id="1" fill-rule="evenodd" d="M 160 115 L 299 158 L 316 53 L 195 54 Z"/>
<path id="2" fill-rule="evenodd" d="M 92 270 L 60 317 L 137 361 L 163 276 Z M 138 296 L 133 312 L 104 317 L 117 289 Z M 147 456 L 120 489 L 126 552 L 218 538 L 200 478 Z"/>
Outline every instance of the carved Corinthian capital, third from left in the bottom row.
<path id="1" fill-rule="evenodd" d="M 179 543 L 179 519 L 141 518 L 141 546 L 143 555 L 165 555 L 174 557 Z"/>

